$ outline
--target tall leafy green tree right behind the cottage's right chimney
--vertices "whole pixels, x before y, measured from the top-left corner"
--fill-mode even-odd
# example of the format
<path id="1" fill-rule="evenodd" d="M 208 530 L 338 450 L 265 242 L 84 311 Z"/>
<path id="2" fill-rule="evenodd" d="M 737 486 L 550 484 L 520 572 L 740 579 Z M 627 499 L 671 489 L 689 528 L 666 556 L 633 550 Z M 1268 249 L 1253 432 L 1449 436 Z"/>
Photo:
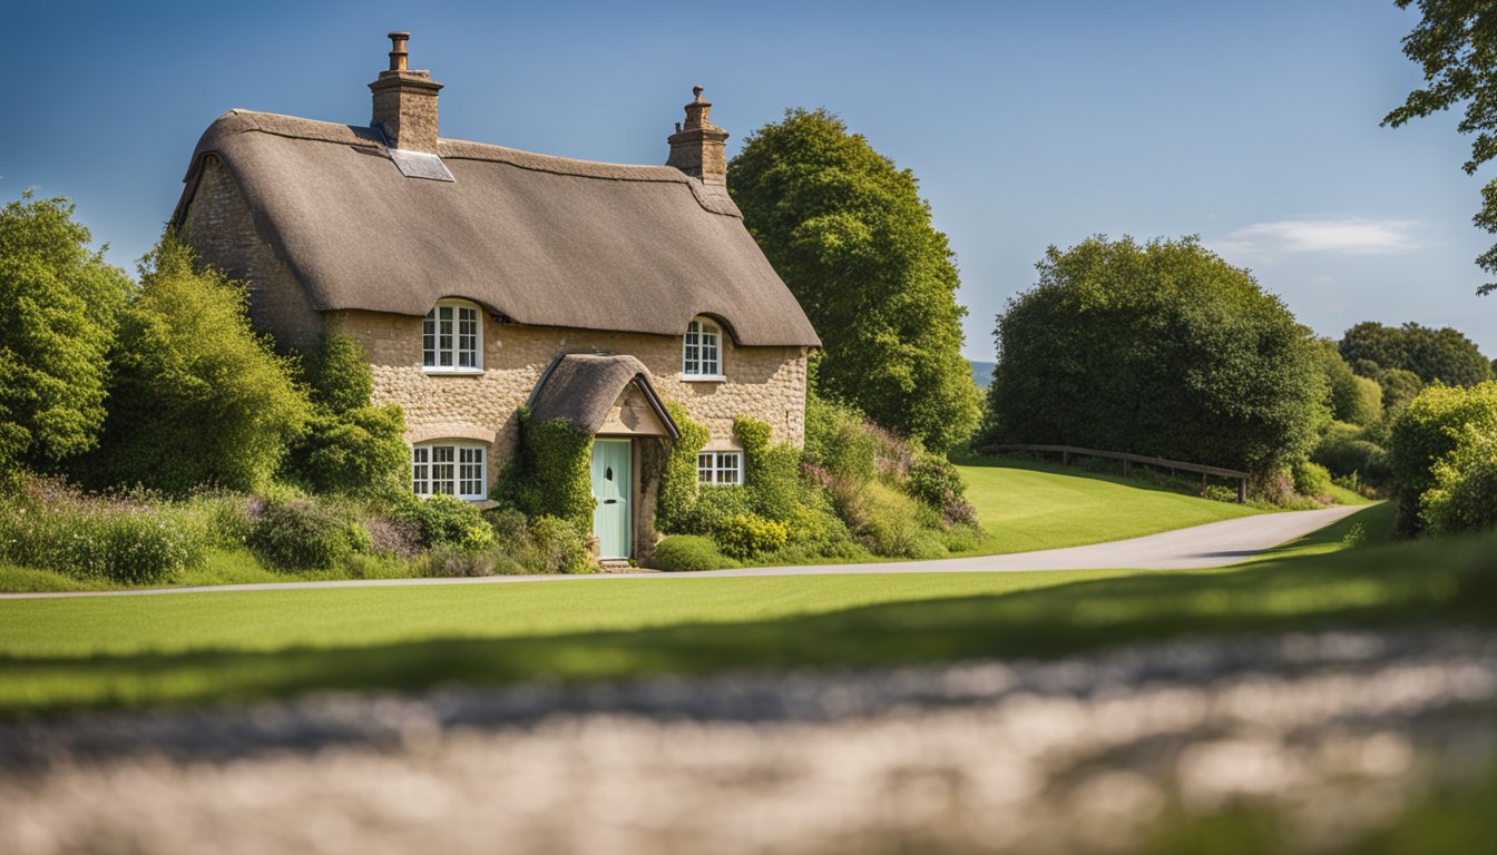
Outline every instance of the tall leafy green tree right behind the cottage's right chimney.
<path id="1" fill-rule="evenodd" d="M 822 337 L 817 391 L 931 449 L 964 442 L 979 400 L 967 310 L 915 174 L 825 109 L 792 109 L 748 136 L 728 189 Z"/>

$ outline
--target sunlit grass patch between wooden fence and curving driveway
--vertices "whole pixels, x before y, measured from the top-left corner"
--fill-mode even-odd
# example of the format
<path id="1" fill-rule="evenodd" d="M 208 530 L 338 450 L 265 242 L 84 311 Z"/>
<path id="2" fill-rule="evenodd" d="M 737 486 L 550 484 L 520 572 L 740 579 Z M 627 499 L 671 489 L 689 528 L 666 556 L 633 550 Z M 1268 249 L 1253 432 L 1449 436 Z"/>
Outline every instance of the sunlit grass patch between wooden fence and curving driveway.
<path id="1" fill-rule="evenodd" d="M 964 556 L 1102 544 L 1263 512 L 1058 464 L 1006 457 L 957 463 L 987 532 Z"/>

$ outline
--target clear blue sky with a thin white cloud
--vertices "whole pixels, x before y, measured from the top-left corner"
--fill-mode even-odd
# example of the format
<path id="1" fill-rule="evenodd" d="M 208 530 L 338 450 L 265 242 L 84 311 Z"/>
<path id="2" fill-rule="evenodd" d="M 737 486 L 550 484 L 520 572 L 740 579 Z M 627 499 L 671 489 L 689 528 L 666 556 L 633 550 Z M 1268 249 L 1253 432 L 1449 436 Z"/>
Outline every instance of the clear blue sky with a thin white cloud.
<path id="1" fill-rule="evenodd" d="M 1451 325 L 1497 356 L 1455 117 L 1377 126 L 1421 78 L 1392 0 L 1138 3 L 7 3 L 0 199 L 78 202 L 133 270 L 229 108 L 368 121 L 413 33 L 443 136 L 660 163 L 692 84 L 734 136 L 840 114 L 915 171 L 963 274 L 967 355 L 1049 244 L 1198 234 L 1325 335 Z"/>

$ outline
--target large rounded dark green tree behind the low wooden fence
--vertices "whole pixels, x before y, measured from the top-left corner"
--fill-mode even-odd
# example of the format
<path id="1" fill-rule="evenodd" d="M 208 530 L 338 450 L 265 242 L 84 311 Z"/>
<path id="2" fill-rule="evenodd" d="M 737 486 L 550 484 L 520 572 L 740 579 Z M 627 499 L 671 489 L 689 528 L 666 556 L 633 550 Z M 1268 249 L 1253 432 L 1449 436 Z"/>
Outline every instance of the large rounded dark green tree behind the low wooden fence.
<path id="1" fill-rule="evenodd" d="M 1328 418 L 1320 346 L 1196 238 L 1049 247 L 998 316 L 994 442 L 1247 469 L 1302 458 Z"/>

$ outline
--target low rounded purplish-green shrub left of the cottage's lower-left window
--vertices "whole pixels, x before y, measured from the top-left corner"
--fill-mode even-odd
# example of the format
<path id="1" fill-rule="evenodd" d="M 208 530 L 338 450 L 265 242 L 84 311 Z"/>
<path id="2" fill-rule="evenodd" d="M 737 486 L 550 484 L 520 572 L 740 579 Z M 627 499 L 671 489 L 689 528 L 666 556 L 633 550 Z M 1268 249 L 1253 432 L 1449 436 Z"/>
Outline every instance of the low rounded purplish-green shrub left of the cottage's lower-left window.
<path id="1" fill-rule="evenodd" d="M 283 570 L 328 570 L 371 547 L 368 532 L 347 509 L 311 499 L 260 508 L 246 544 L 260 562 Z"/>

